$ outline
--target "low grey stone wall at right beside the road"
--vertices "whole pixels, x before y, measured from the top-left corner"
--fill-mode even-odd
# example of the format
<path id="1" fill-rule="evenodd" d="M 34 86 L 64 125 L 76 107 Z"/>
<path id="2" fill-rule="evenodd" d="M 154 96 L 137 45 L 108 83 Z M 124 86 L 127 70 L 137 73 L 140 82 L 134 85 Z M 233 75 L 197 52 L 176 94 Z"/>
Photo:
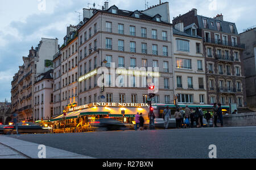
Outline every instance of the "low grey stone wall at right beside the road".
<path id="1" fill-rule="evenodd" d="M 256 112 L 223 116 L 224 127 L 256 126 Z"/>

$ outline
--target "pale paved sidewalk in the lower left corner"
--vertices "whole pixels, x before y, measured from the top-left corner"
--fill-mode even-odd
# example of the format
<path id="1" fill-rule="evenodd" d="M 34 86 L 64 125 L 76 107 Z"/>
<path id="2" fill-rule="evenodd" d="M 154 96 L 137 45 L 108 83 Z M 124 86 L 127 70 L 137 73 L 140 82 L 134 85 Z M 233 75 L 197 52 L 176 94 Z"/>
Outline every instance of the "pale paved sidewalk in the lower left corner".
<path id="1" fill-rule="evenodd" d="M 0 159 L 38 159 L 40 144 L 0 135 Z M 46 146 L 46 159 L 93 159 Z"/>

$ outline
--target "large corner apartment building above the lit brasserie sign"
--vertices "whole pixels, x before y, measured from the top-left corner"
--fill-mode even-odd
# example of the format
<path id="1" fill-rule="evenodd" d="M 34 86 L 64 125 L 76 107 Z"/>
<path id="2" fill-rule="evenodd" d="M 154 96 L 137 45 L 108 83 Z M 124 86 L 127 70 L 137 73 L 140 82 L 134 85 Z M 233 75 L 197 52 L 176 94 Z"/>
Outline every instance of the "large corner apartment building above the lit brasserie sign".
<path id="1" fill-rule="evenodd" d="M 169 13 L 159 9 L 167 11 L 168 2 L 145 11 L 108 7 L 108 2 L 102 10 L 84 9 L 78 28 L 79 105 L 146 103 L 148 82 L 159 89 L 154 102 L 173 102 L 172 24 Z"/>

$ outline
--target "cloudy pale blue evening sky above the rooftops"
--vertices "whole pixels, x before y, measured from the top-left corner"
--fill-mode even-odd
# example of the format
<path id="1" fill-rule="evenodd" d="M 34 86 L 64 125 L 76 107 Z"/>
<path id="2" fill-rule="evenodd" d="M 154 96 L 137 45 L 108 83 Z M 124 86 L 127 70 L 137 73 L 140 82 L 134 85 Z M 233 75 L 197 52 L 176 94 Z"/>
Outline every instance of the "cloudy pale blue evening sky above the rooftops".
<path id="1" fill-rule="evenodd" d="M 11 81 L 22 56 L 28 55 L 33 45 L 40 39 L 58 38 L 63 44 L 66 27 L 77 24 L 83 8 L 101 8 L 104 0 L 9 0 L 0 1 L 0 102 L 11 99 Z M 148 6 L 156 5 L 159 0 L 147 0 Z M 187 13 L 196 8 L 199 15 L 208 17 L 222 13 L 224 20 L 234 22 L 238 32 L 256 24 L 255 0 L 168 0 L 171 20 L 174 16 Z M 145 0 L 109 0 L 109 6 L 119 9 L 144 10 Z"/>

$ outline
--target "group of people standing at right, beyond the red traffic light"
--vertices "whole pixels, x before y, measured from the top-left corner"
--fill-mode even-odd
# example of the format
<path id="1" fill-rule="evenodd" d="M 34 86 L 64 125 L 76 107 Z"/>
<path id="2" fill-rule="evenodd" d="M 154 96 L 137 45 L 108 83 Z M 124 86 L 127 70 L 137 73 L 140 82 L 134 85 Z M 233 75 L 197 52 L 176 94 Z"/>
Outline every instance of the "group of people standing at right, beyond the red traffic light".
<path id="1" fill-rule="evenodd" d="M 171 110 L 168 108 L 164 109 L 164 128 L 168 128 L 168 122 L 171 118 Z M 203 113 L 201 107 L 196 107 L 196 110 L 189 109 L 188 106 L 183 110 L 182 107 L 176 109 L 174 118 L 176 119 L 176 128 L 181 128 L 182 125 L 185 125 L 187 128 L 194 127 L 194 122 L 196 122 L 196 127 L 203 127 L 203 118 L 207 120 L 208 127 L 210 125 L 210 118 L 212 115 L 207 111 L 207 113 Z M 185 119 L 185 121 L 184 121 Z M 214 127 L 217 127 L 217 119 L 220 119 L 221 127 L 223 127 L 223 117 L 222 117 L 222 109 L 221 104 L 214 103 L 213 105 L 213 120 Z"/>

